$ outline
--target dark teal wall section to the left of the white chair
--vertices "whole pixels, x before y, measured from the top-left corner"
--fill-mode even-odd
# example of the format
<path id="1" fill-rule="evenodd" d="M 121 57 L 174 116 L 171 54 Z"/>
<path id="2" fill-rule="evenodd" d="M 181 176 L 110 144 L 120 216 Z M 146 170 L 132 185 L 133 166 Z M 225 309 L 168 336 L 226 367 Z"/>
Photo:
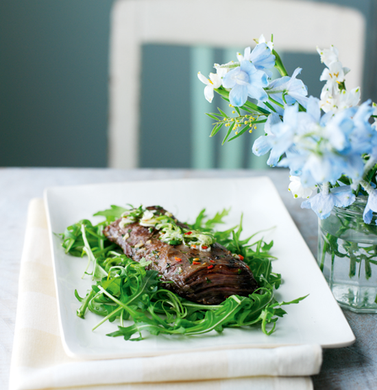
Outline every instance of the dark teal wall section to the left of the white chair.
<path id="1" fill-rule="evenodd" d="M 106 166 L 111 5 L 0 1 L 0 166 Z"/>

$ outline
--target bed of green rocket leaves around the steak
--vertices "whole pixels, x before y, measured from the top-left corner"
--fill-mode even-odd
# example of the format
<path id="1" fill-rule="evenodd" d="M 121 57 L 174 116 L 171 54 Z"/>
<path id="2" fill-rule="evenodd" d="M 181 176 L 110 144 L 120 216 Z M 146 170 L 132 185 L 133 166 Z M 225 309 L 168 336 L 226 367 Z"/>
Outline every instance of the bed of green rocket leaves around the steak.
<path id="1" fill-rule="evenodd" d="M 241 239 L 242 216 L 238 226 L 226 231 L 217 231 L 215 226 L 223 223 L 228 215 L 224 209 L 215 217 L 208 218 L 203 209 L 191 229 L 210 231 L 216 241 L 232 253 L 243 256 L 250 266 L 260 288 L 249 296 L 230 296 L 221 304 L 197 304 L 166 289 L 158 272 L 146 270 L 150 261 L 136 262 L 123 254 L 121 248 L 110 242 L 103 234 L 104 227 L 121 217 L 127 209 L 111 206 L 95 216 L 106 220 L 93 225 L 90 220 L 80 220 L 60 234 L 67 254 L 88 257 L 84 277 L 91 277 L 93 285 L 86 296 L 75 296 L 81 302 L 77 315 L 84 318 L 87 310 L 101 316 L 97 328 L 106 321 L 118 325 L 110 337 L 123 336 L 125 340 L 139 341 L 147 334 L 202 335 L 212 330 L 221 333 L 223 328 L 247 328 L 259 326 L 270 335 L 278 317 L 287 312 L 284 305 L 298 303 L 278 302 L 273 291 L 282 281 L 280 274 L 272 272 L 270 250 L 273 242 L 255 239 L 256 234 Z"/>

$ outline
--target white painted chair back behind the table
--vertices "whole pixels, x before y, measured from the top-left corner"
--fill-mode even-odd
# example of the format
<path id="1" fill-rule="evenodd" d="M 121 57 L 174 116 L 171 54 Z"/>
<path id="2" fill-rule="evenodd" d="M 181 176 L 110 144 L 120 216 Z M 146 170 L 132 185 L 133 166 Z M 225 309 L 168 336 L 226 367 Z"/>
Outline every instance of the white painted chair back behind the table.
<path id="1" fill-rule="evenodd" d="M 334 44 L 343 65 L 352 69 L 348 88 L 361 86 L 365 20 L 351 8 L 299 0 L 115 1 L 110 42 L 109 166 L 138 167 L 143 44 L 247 47 L 262 33 L 266 38 L 274 34 L 278 51 L 315 53 L 317 46 Z"/>

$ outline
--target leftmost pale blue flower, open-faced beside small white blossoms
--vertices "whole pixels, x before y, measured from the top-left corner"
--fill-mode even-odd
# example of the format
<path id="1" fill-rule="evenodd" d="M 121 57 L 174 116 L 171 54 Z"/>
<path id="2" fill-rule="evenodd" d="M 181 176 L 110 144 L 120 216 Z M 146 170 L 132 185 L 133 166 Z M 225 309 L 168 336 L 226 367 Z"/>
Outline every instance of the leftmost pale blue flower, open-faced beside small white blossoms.
<path id="1" fill-rule="evenodd" d="M 230 70 L 223 77 L 223 87 L 232 88 L 229 94 L 230 104 L 240 107 L 247 101 L 247 96 L 260 101 L 267 101 L 268 95 L 263 88 L 268 86 L 266 73 L 257 70 L 250 61 L 242 61 L 240 66 Z"/>

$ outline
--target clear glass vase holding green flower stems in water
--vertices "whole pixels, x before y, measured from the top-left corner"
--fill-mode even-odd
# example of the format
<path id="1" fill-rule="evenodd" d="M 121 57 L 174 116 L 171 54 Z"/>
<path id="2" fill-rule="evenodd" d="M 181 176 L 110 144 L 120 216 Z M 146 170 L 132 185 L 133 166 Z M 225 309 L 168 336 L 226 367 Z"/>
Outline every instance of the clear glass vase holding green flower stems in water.
<path id="1" fill-rule="evenodd" d="M 345 208 L 334 207 L 319 220 L 318 264 L 332 294 L 344 309 L 377 313 L 377 226 L 376 215 L 365 224 L 367 199 Z"/>

